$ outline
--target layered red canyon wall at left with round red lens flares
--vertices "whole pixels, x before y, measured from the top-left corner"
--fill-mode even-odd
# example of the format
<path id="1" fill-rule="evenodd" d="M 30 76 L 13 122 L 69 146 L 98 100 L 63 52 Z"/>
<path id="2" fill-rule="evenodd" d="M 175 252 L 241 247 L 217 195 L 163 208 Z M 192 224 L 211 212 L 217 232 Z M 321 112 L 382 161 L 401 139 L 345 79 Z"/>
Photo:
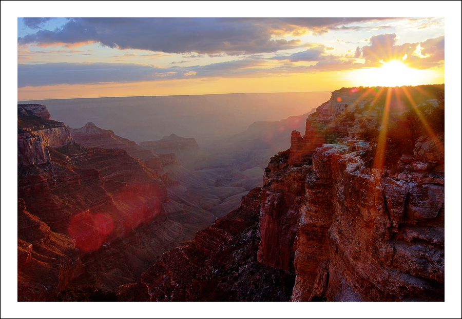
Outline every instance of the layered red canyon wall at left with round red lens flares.
<path id="1" fill-rule="evenodd" d="M 18 106 L 18 301 L 47 300 L 68 284 L 134 282 L 215 220 L 170 200 L 158 172 L 125 150 L 87 148 L 70 134 L 56 146 L 53 129 L 67 127 L 26 111 Z M 46 130 L 49 139 L 35 135 Z"/>

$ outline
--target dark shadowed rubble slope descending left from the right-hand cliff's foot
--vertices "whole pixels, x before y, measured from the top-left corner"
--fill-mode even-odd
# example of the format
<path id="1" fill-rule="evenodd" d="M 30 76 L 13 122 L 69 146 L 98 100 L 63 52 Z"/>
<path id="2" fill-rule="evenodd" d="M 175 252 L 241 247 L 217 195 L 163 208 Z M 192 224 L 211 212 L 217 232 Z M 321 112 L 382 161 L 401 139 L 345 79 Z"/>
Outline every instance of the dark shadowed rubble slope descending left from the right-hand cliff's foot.
<path id="1" fill-rule="evenodd" d="M 162 254 L 137 283 L 122 286 L 118 301 L 290 300 L 294 274 L 256 259 L 260 202 L 255 188 L 240 208 Z"/>

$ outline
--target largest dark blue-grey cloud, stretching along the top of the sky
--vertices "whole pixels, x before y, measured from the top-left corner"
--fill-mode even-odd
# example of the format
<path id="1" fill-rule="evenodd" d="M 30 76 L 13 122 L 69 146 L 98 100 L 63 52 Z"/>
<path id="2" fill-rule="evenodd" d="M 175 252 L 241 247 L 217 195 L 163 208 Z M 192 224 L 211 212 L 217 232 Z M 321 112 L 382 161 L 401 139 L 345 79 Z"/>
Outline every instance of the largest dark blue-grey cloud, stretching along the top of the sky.
<path id="1" fill-rule="evenodd" d="M 298 39 L 286 41 L 274 35 L 301 35 L 306 30 L 321 34 L 378 19 L 386 18 L 71 18 L 61 29 L 18 37 L 18 44 L 99 42 L 122 50 L 257 54 L 301 47 Z"/>

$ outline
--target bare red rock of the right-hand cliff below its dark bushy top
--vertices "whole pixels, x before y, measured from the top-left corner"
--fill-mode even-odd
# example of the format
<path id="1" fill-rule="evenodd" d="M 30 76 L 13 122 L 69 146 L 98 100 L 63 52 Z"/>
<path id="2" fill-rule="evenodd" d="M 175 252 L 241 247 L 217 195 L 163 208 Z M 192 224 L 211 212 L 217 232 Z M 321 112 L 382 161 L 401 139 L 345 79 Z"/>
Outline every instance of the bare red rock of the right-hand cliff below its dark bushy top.
<path id="1" fill-rule="evenodd" d="M 348 135 L 357 137 L 353 127 L 379 112 L 355 114 L 354 122 L 345 116 L 339 126 L 347 109 L 337 98 L 348 108 L 352 102 L 340 91 L 309 116 L 304 137 L 293 132 L 288 159 L 268 165 L 258 259 L 290 268 L 281 262 L 290 249 L 280 242 L 289 238 L 283 229 L 294 229 L 295 240 L 284 244 L 293 242 L 295 251 L 292 301 L 443 301 L 444 132 L 417 138 L 414 150 L 403 151 L 414 156 L 384 163 L 399 167 L 397 175 L 396 168 L 364 167 L 361 154 L 371 145 Z M 338 144 L 322 145 L 322 134 L 332 133 Z M 306 178 L 288 178 L 300 165 Z M 287 205 L 294 195 L 288 185 L 302 195 L 296 219 L 287 214 L 296 207 Z"/>

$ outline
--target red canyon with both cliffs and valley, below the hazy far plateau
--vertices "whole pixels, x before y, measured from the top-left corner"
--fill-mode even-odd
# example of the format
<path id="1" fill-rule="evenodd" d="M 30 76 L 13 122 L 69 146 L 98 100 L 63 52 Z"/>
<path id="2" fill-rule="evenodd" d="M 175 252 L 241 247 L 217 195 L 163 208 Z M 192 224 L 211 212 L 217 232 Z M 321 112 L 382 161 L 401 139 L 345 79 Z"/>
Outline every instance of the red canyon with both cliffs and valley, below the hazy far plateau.
<path id="1" fill-rule="evenodd" d="M 125 302 L 442 302 L 444 111 L 444 85 L 342 88 L 226 138 L 286 134 L 263 169 L 18 104 L 18 301 L 81 285 Z"/>

